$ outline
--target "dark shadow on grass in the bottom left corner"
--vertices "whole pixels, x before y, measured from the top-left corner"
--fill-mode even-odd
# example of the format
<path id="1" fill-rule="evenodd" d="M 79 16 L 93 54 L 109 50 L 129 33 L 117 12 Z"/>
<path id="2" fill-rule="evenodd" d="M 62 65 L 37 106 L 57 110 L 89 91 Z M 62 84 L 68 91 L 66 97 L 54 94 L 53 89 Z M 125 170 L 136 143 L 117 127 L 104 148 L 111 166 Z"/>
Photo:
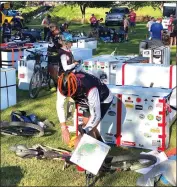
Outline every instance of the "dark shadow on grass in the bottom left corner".
<path id="1" fill-rule="evenodd" d="M 17 186 L 23 176 L 19 166 L 1 167 L 1 187 Z"/>

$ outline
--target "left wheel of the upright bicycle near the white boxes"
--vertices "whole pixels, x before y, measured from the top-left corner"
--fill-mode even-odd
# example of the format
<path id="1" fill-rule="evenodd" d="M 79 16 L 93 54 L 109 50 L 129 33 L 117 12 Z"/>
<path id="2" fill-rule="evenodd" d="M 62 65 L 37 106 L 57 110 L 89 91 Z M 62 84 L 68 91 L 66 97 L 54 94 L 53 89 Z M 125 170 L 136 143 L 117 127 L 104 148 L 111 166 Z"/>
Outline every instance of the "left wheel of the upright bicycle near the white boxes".
<path id="1" fill-rule="evenodd" d="M 31 77 L 31 81 L 29 85 L 30 98 L 34 99 L 38 96 L 41 86 L 42 86 L 42 72 L 38 70 L 34 72 Z"/>

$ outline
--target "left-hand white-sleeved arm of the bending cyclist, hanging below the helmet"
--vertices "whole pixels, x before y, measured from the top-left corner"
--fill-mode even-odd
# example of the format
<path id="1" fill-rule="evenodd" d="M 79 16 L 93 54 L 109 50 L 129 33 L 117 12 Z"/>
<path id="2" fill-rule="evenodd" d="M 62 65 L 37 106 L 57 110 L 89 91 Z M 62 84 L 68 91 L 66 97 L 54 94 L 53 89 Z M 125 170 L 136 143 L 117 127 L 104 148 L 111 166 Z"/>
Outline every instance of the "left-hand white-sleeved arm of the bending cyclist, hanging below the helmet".
<path id="1" fill-rule="evenodd" d="M 59 119 L 61 125 L 65 125 L 66 124 L 65 109 L 64 109 L 65 99 L 66 99 L 66 97 L 63 96 L 59 92 L 59 90 L 57 89 L 56 109 L 57 109 L 58 119 Z"/>

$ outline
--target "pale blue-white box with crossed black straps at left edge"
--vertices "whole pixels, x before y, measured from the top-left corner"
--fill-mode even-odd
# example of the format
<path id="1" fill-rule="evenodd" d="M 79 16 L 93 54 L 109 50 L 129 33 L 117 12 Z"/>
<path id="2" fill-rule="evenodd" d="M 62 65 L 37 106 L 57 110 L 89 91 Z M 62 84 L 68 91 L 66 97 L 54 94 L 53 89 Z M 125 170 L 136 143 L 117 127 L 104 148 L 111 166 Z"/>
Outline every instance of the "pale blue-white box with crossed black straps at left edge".
<path id="1" fill-rule="evenodd" d="M 1 104 L 0 110 L 4 110 L 17 103 L 16 96 L 16 70 L 14 68 L 0 68 L 1 71 Z"/>

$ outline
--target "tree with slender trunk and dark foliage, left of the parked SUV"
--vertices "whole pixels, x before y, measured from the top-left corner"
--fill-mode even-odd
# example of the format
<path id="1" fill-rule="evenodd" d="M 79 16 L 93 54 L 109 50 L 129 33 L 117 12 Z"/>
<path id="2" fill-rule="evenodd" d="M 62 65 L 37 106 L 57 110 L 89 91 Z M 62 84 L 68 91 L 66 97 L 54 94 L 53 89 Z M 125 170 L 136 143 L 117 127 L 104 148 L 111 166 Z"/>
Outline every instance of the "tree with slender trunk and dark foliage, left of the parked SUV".
<path id="1" fill-rule="evenodd" d="M 70 4 L 73 6 L 78 5 L 82 13 L 82 23 L 84 23 L 86 8 L 111 7 L 115 4 L 115 2 L 114 1 L 74 1 L 74 2 L 66 1 L 65 4 Z"/>

